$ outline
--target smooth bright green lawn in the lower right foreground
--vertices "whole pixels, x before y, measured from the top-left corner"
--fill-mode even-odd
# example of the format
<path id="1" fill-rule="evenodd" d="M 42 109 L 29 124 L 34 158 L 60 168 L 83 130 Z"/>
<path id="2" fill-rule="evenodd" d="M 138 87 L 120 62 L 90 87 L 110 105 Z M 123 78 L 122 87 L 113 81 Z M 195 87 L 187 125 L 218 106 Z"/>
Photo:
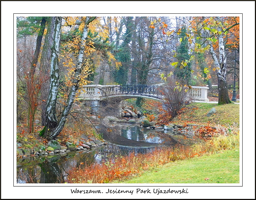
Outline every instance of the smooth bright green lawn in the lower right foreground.
<path id="1" fill-rule="evenodd" d="M 239 183 L 239 150 L 170 162 L 114 183 Z"/>

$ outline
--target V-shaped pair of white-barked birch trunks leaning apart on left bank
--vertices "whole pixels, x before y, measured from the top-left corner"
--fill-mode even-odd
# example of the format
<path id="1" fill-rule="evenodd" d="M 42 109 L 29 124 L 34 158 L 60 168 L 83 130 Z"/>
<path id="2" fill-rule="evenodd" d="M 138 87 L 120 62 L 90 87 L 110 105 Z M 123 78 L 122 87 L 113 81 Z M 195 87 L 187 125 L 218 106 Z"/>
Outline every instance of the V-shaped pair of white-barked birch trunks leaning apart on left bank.
<path id="1" fill-rule="evenodd" d="M 76 92 L 79 88 L 79 82 L 81 80 L 81 73 L 84 69 L 83 57 L 86 48 L 86 39 L 88 36 L 88 25 L 95 20 L 96 17 L 84 17 L 82 22 L 84 23 L 84 28 L 82 30 L 81 42 L 79 44 L 79 51 L 77 55 L 77 62 L 75 65 L 74 76 L 72 79 L 72 85 L 69 90 L 68 97 L 66 99 L 63 112 L 60 119 L 57 121 L 56 117 L 56 102 L 59 89 L 59 52 L 60 52 L 60 37 L 61 37 L 61 24 L 62 18 L 57 17 L 54 26 L 54 43 L 52 47 L 51 55 L 51 74 L 50 74 L 50 91 L 47 99 L 47 125 L 41 131 L 40 135 L 44 136 L 48 140 L 55 139 L 64 128 L 64 124 L 67 119 L 67 115 L 71 109 L 74 102 Z"/>

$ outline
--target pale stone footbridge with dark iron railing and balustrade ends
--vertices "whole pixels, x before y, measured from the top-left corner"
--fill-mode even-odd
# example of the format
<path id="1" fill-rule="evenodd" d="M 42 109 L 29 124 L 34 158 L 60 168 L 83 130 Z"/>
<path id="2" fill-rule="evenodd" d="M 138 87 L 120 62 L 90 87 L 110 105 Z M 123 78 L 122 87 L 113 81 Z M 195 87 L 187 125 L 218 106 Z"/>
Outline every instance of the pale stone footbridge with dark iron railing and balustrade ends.
<path id="1" fill-rule="evenodd" d="M 122 111 L 120 102 L 124 99 L 130 98 L 150 98 L 154 100 L 162 100 L 164 95 L 161 86 L 147 86 L 147 85 L 87 85 L 84 86 L 84 90 L 81 91 L 78 97 L 79 101 L 90 101 L 90 107 L 93 112 L 97 113 L 99 108 L 103 108 L 107 111 L 107 108 L 112 104 L 111 111 L 115 110 L 115 114 L 120 116 Z M 192 100 L 209 101 L 207 98 L 208 87 L 192 86 L 189 90 L 188 96 Z M 116 106 L 113 106 L 116 103 Z"/>

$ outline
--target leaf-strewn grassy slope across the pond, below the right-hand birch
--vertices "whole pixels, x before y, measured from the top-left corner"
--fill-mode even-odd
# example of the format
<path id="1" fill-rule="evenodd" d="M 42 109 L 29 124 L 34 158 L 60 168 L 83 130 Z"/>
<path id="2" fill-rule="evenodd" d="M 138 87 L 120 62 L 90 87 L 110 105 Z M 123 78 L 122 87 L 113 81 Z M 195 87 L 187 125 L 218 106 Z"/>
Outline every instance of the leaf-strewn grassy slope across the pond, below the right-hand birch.
<path id="1" fill-rule="evenodd" d="M 212 108 L 216 109 L 216 114 L 206 116 Z M 172 121 L 175 123 L 189 121 L 195 124 L 219 124 L 223 126 L 233 123 L 239 124 L 239 104 L 191 103 Z"/>

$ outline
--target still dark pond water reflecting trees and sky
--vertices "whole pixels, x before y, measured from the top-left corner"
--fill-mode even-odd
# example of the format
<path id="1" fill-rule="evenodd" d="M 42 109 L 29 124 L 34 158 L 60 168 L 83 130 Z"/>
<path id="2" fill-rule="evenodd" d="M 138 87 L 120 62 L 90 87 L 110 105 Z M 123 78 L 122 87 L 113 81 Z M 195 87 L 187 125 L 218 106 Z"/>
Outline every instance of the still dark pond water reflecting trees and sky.
<path id="1" fill-rule="evenodd" d="M 191 145 L 196 142 L 187 133 L 187 139 L 184 140 L 183 132 L 157 131 L 136 125 L 113 124 L 96 128 L 103 134 L 107 145 L 66 155 L 17 158 L 17 183 L 64 183 L 67 171 L 79 167 L 80 163 L 90 166 L 105 162 L 116 155 L 148 153 L 156 147 Z"/>

